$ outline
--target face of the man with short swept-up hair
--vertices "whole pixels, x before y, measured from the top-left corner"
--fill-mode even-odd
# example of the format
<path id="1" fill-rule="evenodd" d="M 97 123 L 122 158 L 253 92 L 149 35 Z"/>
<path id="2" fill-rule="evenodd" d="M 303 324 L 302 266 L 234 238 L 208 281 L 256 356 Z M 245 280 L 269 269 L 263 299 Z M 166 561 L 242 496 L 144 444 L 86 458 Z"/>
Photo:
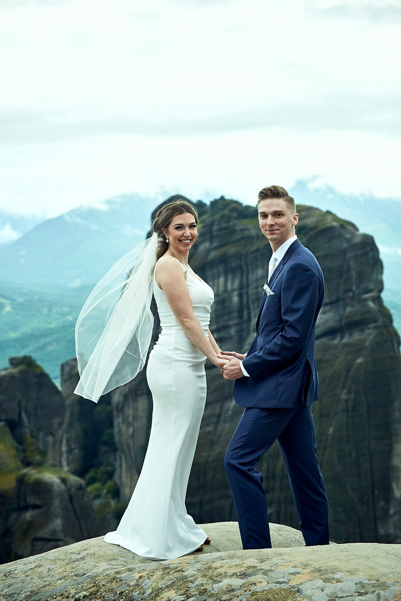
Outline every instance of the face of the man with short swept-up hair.
<path id="1" fill-rule="evenodd" d="M 259 226 L 273 251 L 295 234 L 298 213 L 292 213 L 283 198 L 261 200 L 258 207 Z"/>

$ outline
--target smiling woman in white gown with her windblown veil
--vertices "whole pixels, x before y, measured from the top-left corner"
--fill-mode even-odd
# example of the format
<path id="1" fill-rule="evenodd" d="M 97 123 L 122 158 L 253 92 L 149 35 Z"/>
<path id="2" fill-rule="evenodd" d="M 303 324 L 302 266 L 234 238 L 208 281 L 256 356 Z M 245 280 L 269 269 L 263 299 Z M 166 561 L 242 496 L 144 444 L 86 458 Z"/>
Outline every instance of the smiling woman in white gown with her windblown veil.
<path id="1" fill-rule="evenodd" d="M 104 539 L 153 560 L 210 543 L 186 513 L 185 495 L 206 401 L 204 364 L 207 358 L 221 368 L 228 361 L 218 357 L 209 330 L 213 290 L 188 264 L 197 225 L 197 210 L 187 201 L 165 204 L 152 237 L 109 270 L 76 324 L 81 379 L 75 392 L 97 402 L 144 366 L 155 296 L 162 331 L 146 371 L 153 397 L 150 439 L 129 505 L 117 530 Z"/>

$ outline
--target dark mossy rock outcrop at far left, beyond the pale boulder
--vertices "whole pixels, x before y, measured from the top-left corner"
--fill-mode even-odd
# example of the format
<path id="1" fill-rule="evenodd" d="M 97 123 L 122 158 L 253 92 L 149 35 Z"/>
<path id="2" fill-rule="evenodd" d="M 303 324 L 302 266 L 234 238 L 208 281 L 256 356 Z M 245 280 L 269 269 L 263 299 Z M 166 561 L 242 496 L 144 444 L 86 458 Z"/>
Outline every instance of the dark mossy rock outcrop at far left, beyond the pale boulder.
<path id="1" fill-rule="evenodd" d="M 64 398 L 31 357 L 0 371 L 0 563 L 99 534 L 85 482 L 58 467 Z"/>

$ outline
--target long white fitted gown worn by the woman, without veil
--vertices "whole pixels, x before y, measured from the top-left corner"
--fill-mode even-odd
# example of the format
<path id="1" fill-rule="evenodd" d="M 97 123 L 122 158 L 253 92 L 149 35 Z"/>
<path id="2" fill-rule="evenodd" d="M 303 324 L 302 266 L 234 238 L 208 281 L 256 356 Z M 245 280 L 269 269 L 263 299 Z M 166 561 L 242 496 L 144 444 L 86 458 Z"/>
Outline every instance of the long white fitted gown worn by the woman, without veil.
<path id="1" fill-rule="evenodd" d="M 207 336 L 213 290 L 185 272 L 195 316 Z M 183 331 L 156 280 L 153 294 L 162 331 L 146 372 L 153 397 L 152 429 L 129 505 L 117 530 L 108 532 L 104 540 L 142 557 L 169 560 L 195 551 L 207 537 L 185 507 L 206 401 L 206 357 Z"/>

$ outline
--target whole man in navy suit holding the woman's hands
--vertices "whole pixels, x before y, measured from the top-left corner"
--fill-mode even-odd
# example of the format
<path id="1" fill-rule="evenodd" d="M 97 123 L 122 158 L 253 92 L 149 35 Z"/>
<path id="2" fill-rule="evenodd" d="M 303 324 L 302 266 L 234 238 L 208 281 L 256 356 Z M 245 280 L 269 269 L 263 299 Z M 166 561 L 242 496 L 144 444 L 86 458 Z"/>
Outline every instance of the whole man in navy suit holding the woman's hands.
<path id="1" fill-rule="evenodd" d="M 328 500 L 316 454 L 311 404 L 319 395 L 314 361 L 323 274 L 295 235 L 295 202 L 286 189 L 259 192 L 259 225 L 272 247 L 268 281 L 246 355 L 224 352 L 222 368 L 236 380 L 245 407 L 224 457 L 244 549 L 271 548 L 263 476 L 256 465 L 275 440 L 290 479 L 305 544 L 328 545 Z M 227 356 L 225 356 L 227 358 Z"/>

